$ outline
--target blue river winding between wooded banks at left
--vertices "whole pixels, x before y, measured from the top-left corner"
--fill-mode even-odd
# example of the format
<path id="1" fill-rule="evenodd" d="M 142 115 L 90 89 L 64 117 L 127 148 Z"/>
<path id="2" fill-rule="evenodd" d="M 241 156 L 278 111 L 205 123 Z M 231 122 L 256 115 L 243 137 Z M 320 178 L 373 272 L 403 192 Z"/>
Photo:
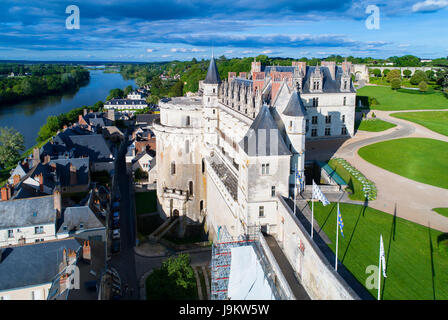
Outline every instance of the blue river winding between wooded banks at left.
<path id="1" fill-rule="evenodd" d="M 0 127 L 13 127 L 25 138 L 25 149 L 36 144 L 37 133 L 48 116 L 59 115 L 71 109 L 105 101 L 109 91 L 136 86 L 134 80 L 124 80 L 119 73 L 91 70 L 90 81 L 77 92 L 58 94 L 24 101 L 0 108 Z"/>

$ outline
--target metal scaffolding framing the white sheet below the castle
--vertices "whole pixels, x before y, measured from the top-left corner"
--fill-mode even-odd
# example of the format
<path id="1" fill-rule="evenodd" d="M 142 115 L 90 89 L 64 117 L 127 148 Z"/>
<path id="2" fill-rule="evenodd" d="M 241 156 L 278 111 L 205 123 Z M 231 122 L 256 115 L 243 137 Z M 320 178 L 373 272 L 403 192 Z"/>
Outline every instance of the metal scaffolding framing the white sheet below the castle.
<path id="1" fill-rule="evenodd" d="M 266 260 L 263 249 L 259 243 L 261 235 L 260 226 L 247 227 L 246 234 L 238 238 L 232 237 L 225 227 L 218 227 L 218 240 L 212 247 L 211 260 L 211 299 L 212 300 L 227 300 L 230 266 L 232 261 L 231 250 L 235 247 L 253 246 L 257 254 L 258 262 L 260 263 L 266 280 L 271 286 L 272 292 L 276 299 L 283 299 L 284 294 L 282 290 L 276 285 L 276 276 L 272 270 L 270 263 Z"/>

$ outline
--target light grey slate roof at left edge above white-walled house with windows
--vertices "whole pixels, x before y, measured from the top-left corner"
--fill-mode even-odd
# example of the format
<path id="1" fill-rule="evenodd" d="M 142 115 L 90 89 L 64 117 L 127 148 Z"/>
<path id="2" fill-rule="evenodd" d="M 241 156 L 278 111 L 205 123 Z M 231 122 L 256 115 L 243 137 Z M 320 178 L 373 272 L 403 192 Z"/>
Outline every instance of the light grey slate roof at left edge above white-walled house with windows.
<path id="1" fill-rule="evenodd" d="M 55 223 L 53 196 L 0 201 L 0 217 L 0 229 Z"/>

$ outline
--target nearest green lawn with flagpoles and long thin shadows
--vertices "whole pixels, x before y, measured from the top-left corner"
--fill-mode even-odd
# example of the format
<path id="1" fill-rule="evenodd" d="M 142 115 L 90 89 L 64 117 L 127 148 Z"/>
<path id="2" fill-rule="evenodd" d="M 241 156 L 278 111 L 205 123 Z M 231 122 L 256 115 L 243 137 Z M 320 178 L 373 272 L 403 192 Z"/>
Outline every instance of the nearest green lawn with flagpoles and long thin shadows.
<path id="1" fill-rule="evenodd" d="M 336 203 L 314 204 L 314 217 L 331 239 L 335 252 Z M 369 265 L 378 266 L 383 235 L 387 278 L 381 279 L 382 299 L 448 299 L 446 234 L 395 218 L 382 211 L 341 204 L 344 237 L 339 233 L 339 261 L 366 285 Z M 377 289 L 368 290 L 377 297 Z"/>

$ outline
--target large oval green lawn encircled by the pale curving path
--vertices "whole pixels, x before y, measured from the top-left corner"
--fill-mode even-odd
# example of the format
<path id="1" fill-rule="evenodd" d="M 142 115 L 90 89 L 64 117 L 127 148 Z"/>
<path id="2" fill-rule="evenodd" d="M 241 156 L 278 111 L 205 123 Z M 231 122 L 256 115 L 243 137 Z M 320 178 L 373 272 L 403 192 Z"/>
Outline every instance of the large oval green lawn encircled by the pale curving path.
<path id="1" fill-rule="evenodd" d="M 403 177 L 448 188 L 448 143 L 427 138 L 383 141 L 359 149 L 366 161 Z"/>

